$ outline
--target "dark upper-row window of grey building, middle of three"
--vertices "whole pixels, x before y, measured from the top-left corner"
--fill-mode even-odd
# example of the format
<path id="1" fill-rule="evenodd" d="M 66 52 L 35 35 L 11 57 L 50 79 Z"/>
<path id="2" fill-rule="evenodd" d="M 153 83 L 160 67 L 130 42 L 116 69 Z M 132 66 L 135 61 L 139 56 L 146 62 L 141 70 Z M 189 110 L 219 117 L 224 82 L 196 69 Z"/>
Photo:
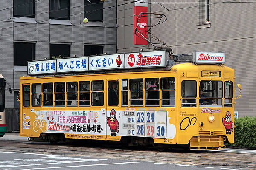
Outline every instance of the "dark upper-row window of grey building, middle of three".
<path id="1" fill-rule="evenodd" d="M 69 20 L 70 1 L 50 0 L 50 19 Z"/>

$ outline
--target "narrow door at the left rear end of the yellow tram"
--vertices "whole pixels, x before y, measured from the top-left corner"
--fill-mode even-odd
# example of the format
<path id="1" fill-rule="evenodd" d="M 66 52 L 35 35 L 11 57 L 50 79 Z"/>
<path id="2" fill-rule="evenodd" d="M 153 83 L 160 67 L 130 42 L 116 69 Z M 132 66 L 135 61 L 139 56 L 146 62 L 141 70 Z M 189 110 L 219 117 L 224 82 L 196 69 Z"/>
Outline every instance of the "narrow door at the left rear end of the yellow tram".
<path id="1" fill-rule="evenodd" d="M 23 84 L 22 85 L 22 106 L 20 106 L 21 109 L 21 133 L 22 135 L 30 135 L 31 130 L 31 121 L 32 121 L 32 115 L 31 115 L 31 109 L 30 109 L 30 85 L 29 84 Z"/>

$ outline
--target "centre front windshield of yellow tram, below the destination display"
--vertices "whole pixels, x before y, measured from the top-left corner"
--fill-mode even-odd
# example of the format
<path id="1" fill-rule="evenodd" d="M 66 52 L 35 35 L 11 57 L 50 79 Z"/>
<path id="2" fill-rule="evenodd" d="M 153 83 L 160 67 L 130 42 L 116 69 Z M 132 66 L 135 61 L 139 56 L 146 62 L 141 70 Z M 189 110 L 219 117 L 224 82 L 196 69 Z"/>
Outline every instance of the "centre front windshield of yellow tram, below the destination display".
<path id="1" fill-rule="evenodd" d="M 222 106 L 222 81 L 201 81 L 199 87 L 199 106 Z"/>

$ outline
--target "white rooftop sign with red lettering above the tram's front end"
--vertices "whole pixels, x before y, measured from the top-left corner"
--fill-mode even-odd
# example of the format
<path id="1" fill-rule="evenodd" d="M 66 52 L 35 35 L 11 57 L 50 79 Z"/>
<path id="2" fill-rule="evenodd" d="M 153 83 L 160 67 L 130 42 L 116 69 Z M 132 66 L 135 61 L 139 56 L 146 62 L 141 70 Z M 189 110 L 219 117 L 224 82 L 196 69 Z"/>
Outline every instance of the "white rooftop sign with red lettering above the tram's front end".
<path id="1" fill-rule="evenodd" d="M 205 51 L 194 51 L 193 62 L 205 63 L 205 64 L 223 64 L 225 63 L 224 52 L 205 52 Z"/>

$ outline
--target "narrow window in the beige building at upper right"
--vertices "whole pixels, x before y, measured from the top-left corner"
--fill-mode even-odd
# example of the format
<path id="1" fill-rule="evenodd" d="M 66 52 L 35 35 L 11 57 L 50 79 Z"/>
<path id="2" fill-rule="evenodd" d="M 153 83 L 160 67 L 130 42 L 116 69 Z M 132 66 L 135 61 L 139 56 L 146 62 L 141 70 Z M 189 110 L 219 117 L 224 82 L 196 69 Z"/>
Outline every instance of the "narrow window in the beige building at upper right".
<path id="1" fill-rule="evenodd" d="M 198 24 L 210 22 L 210 0 L 199 0 Z"/>

